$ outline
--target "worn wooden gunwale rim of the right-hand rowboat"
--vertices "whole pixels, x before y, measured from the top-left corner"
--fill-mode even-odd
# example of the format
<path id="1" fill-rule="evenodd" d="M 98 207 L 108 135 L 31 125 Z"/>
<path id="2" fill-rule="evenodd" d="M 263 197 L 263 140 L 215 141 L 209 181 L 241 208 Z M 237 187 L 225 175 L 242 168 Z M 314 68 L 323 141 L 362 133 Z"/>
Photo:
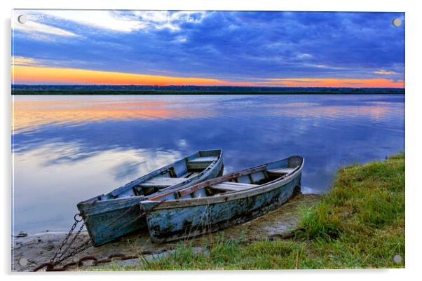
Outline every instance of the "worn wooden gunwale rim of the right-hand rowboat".
<path id="1" fill-rule="evenodd" d="M 292 158 L 292 157 L 301 157 L 301 156 L 290 156 L 288 158 L 284 158 L 284 159 L 281 159 L 281 160 L 287 160 L 287 159 Z M 299 165 L 299 167 L 297 167 L 296 170 L 294 170 L 294 172 L 289 174 L 287 177 L 274 179 L 273 181 L 268 181 L 265 184 L 261 184 L 259 186 L 252 188 L 252 189 L 246 189 L 244 191 L 231 191 L 229 193 L 221 193 L 222 195 L 207 196 L 207 197 L 202 197 L 202 198 L 185 198 L 185 199 L 164 200 L 164 201 L 144 200 L 140 203 L 140 205 L 141 205 L 141 208 L 144 209 L 144 210 L 148 210 L 149 208 L 144 208 L 143 203 L 145 203 L 145 204 L 151 204 L 152 203 L 154 205 L 154 207 L 152 207 L 150 210 L 147 211 L 147 216 L 149 216 L 149 214 L 151 212 L 154 212 L 155 210 L 166 210 L 166 209 L 173 209 L 173 208 L 179 208 L 179 207 L 194 207 L 194 206 L 199 206 L 199 205 L 211 205 L 211 204 L 217 204 L 217 203 L 224 203 L 224 202 L 227 202 L 227 201 L 239 200 L 239 199 L 250 197 L 250 196 L 256 196 L 256 195 L 259 195 L 261 193 L 266 193 L 268 191 L 272 191 L 273 189 L 278 189 L 281 186 L 288 184 L 290 181 L 292 181 L 293 179 L 298 177 L 298 175 L 303 170 L 304 163 L 305 163 L 305 158 L 301 157 L 301 159 L 302 159 L 301 165 Z M 270 163 L 273 163 L 273 162 L 270 162 Z M 227 176 L 232 175 L 232 174 L 239 174 L 239 173 L 247 172 L 249 170 L 257 169 L 258 167 L 265 167 L 266 165 L 268 165 L 270 163 L 266 163 L 264 165 L 259 165 L 257 167 L 252 167 L 250 169 L 243 170 L 243 171 L 240 171 L 240 172 L 233 172 L 231 174 L 226 174 L 225 176 L 222 176 L 222 177 L 227 177 Z M 205 182 L 215 181 L 216 179 L 219 179 L 219 178 L 203 181 L 199 184 L 205 184 Z M 217 182 L 221 182 L 221 181 L 215 181 L 215 182 L 217 183 Z M 196 185 L 199 185 L 199 184 L 195 184 L 193 186 L 196 186 Z M 214 182 L 212 184 L 214 184 Z M 207 185 L 204 186 L 204 188 L 207 187 L 207 186 L 210 186 L 212 184 L 207 184 Z M 190 187 L 193 187 L 193 186 L 190 186 Z"/>

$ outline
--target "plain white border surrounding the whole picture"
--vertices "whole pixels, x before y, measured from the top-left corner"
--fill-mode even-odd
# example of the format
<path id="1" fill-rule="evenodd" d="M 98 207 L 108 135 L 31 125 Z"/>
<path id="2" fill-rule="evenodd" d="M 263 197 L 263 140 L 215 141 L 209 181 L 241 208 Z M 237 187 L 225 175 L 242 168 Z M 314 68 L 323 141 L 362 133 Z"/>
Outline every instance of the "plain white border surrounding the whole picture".
<path id="1" fill-rule="evenodd" d="M 172 280 L 215 280 L 216 278 L 229 280 L 233 275 L 242 275 L 245 280 L 256 280 L 257 278 L 278 279 L 280 277 L 299 280 L 356 280 L 361 277 L 377 278 L 385 280 L 404 280 L 407 277 L 416 275 L 419 266 L 421 253 L 421 242 L 419 233 L 421 189 L 418 188 L 418 159 L 421 156 L 421 120 L 422 105 L 421 78 L 418 70 L 421 66 L 421 40 L 422 11 L 418 9 L 416 1 L 331 1 L 331 0 L 294 0 L 294 1 L 271 1 L 271 0 L 214 0 L 214 1 L 133 1 L 133 0 L 15 0 L 1 2 L 2 32 L 1 42 L 1 155 L 0 163 L 3 191 L 4 231 L 1 231 L 1 268 L 2 273 L 13 279 L 26 279 L 31 277 L 40 280 L 69 280 L 78 275 L 77 278 L 92 280 L 102 275 L 104 280 L 118 278 L 167 278 Z M 50 273 L 30 274 L 11 273 L 11 9 L 12 8 L 62 8 L 62 9 L 132 9 L 132 10 L 243 10 L 243 11 L 386 11 L 406 13 L 406 269 L 395 270 L 243 270 L 243 271 L 185 271 L 185 272 L 120 272 L 120 273 Z M 93 276 L 96 275 L 96 276 Z M 111 276 L 109 276 L 111 275 Z M 134 277 L 133 275 L 140 275 Z"/>

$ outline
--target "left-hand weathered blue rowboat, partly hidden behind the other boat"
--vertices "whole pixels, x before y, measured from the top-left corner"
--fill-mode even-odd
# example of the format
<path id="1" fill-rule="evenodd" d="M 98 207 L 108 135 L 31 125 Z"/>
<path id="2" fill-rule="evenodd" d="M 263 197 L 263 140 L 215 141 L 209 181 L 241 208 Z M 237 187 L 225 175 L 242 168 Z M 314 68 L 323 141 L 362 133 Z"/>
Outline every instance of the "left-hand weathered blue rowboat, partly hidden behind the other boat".
<path id="1" fill-rule="evenodd" d="M 222 172 L 221 149 L 197 151 L 77 207 L 93 244 L 99 246 L 147 226 L 139 210 L 142 200 L 213 179 Z"/>

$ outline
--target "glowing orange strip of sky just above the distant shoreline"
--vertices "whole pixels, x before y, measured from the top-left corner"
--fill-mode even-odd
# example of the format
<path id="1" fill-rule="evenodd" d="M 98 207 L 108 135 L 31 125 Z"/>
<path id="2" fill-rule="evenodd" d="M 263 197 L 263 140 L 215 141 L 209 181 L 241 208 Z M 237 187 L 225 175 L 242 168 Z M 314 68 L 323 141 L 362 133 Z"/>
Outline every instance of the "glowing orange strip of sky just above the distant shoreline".
<path id="1" fill-rule="evenodd" d="M 13 83 L 83 85 L 233 85 L 286 87 L 404 88 L 404 81 L 388 78 L 256 78 L 224 81 L 215 78 L 133 74 L 88 69 L 12 66 Z"/>

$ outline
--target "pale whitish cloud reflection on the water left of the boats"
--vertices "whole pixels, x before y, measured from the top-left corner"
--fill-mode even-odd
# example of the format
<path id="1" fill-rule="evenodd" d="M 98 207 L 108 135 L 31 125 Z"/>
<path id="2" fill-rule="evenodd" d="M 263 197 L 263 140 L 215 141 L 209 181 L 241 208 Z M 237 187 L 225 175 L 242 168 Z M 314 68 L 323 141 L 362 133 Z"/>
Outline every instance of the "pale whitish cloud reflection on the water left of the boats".
<path id="1" fill-rule="evenodd" d="M 136 178 L 139 171 L 151 172 L 181 157 L 179 151 L 112 149 L 74 158 L 78 146 L 44 144 L 14 154 L 15 233 L 65 231 L 79 201 L 111 191 Z"/>

